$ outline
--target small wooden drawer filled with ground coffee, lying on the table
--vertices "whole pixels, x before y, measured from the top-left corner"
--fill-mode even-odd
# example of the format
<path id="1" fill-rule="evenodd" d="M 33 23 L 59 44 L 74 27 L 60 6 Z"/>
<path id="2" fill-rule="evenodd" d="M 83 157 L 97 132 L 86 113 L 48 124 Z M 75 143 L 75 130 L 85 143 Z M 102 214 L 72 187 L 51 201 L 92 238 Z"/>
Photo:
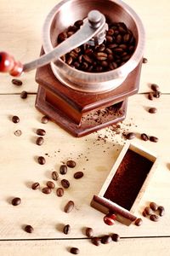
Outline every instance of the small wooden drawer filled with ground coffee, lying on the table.
<path id="1" fill-rule="evenodd" d="M 116 220 L 131 224 L 137 218 L 133 212 L 157 165 L 156 155 L 126 143 L 91 206 L 105 214 L 114 212 Z"/>

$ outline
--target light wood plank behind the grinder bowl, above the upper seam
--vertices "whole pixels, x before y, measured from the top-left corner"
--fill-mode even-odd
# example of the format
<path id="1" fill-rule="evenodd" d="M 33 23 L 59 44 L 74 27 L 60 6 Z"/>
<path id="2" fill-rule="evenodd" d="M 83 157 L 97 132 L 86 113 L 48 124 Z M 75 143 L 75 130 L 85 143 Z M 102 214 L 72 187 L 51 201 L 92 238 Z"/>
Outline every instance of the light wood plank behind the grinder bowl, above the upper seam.
<path id="1" fill-rule="evenodd" d="M 8 8 L 7 2 L 0 0 L 0 49 L 8 51 L 23 62 L 37 58 L 42 45 L 43 21 L 56 3 L 59 0 L 38 0 L 31 4 L 27 0 L 16 0 L 9 1 Z M 169 92 L 170 3 L 168 0 L 162 0 L 159 4 L 155 4 L 153 0 L 127 0 L 126 3 L 139 14 L 146 31 L 144 55 L 149 62 L 143 65 L 139 91 L 148 91 L 150 83 L 157 83 L 162 92 Z M 25 90 L 37 92 L 34 77 L 35 71 L 22 77 Z M 20 91 L 10 81 L 10 77 L 1 74 L 1 93 Z"/>

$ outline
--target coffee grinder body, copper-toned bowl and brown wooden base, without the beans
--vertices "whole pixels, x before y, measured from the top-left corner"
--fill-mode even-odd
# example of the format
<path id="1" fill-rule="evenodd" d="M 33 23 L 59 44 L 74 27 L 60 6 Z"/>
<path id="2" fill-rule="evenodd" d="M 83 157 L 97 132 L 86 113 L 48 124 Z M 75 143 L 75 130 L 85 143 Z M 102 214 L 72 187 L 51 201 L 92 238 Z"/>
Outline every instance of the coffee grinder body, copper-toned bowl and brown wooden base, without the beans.
<path id="1" fill-rule="evenodd" d="M 56 47 L 59 33 L 77 20 L 88 20 L 91 38 L 88 37 L 90 33 L 88 35 L 80 28 L 73 35 L 77 35 L 75 48 L 81 45 L 81 41 L 82 44 L 100 44 L 105 40 L 105 18 L 126 24 L 136 40 L 133 55 L 121 67 L 103 73 L 88 73 L 70 67 L 56 57 L 45 66 L 38 66 L 38 61 L 31 62 L 34 67 L 30 65 L 31 69 L 37 67 L 36 108 L 75 137 L 125 119 L 128 96 L 139 90 L 144 26 L 133 9 L 121 0 L 63 0 L 50 11 L 42 29 L 41 56 L 59 48 Z M 81 33 L 80 36 L 77 33 Z M 69 51 L 71 38 L 59 48 L 59 57 L 67 52 L 66 49 Z M 49 61 L 50 58 L 46 63 Z M 29 71 L 29 63 L 24 65 L 24 71 Z"/>

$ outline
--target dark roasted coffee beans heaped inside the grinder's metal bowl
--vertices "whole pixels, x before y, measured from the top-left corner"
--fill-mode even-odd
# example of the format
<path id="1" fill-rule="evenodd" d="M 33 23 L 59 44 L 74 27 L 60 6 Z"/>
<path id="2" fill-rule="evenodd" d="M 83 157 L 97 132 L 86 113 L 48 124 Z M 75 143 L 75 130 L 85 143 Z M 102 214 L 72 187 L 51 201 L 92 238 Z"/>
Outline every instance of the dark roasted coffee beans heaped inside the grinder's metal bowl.
<path id="1" fill-rule="evenodd" d="M 61 59 L 69 66 L 89 73 L 102 73 L 121 67 L 126 63 L 135 50 L 136 40 L 133 32 L 123 22 L 109 22 L 103 44 L 91 46 L 82 44 Z M 64 32 L 59 33 L 57 43 L 65 41 L 82 26 L 83 20 L 77 20 Z"/>

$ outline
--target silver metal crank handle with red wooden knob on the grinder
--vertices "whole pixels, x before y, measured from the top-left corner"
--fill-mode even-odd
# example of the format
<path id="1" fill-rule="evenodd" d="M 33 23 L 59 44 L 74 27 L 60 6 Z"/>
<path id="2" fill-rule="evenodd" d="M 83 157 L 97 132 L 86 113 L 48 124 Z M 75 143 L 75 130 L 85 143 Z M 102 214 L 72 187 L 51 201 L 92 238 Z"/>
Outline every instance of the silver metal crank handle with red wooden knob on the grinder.
<path id="1" fill-rule="evenodd" d="M 81 44 L 88 42 L 91 38 L 100 37 L 105 28 L 105 16 L 98 10 L 92 10 L 88 13 L 88 19 L 84 20 L 80 30 L 67 38 L 64 42 L 55 47 L 48 54 L 42 55 L 35 61 L 21 64 L 20 61 L 15 61 L 14 57 L 6 52 L 0 52 L 0 72 L 9 73 L 12 76 L 20 76 L 23 72 L 29 72 L 37 67 L 47 65 L 51 61 L 56 61 L 60 56 L 65 55 L 72 49 L 77 48 Z M 100 37 L 101 44 L 105 36 Z"/>

